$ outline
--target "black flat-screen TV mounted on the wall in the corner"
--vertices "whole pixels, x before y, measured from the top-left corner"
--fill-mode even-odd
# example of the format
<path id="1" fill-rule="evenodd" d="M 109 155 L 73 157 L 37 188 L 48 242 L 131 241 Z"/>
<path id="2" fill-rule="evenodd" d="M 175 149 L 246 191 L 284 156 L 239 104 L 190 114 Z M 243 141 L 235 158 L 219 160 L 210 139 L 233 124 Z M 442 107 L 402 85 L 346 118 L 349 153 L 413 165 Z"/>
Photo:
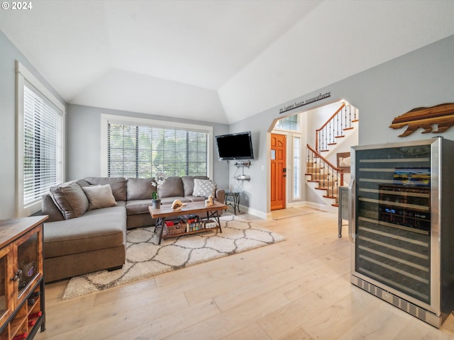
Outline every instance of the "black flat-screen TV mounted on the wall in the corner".
<path id="1" fill-rule="evenodd" d="M 254 159 L 250 131 L 216 136 L 219 159 Z"/>

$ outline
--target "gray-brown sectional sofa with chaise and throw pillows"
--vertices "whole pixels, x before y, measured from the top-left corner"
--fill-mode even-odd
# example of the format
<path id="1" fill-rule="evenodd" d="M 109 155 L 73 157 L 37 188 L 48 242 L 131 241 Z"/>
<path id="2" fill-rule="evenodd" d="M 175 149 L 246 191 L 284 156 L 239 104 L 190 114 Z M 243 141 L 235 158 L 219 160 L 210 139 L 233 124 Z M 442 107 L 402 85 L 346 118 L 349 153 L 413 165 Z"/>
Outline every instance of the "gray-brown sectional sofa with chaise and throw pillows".
<path id="1" fill-rule="evenodd" d="M 204 200 L 201 183 L 211 184 L 215 199 L 224 202 L 206 176 L 170 176 L 160 188 L 154 179 L 87 177 L 62 183 L 43 196 L 45 282 L 121 268 L 126 259 L 126 229 L 155 225 L 148 206 L 157 190 L 162 205 L 175 199 Z M 199 184 L 199 186 L 197 186 Z"/>

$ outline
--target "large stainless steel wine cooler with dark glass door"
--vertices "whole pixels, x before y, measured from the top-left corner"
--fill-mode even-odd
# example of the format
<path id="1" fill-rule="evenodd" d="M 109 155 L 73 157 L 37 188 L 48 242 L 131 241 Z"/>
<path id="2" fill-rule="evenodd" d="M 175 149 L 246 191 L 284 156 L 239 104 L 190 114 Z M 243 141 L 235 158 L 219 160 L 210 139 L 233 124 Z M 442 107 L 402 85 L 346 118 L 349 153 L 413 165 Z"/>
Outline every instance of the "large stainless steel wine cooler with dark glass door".
<path id="1" fill-rule="evenodd" d="M 454 142 L 353 147 L 351 283 L 434 327 L 454 309 Z"/>

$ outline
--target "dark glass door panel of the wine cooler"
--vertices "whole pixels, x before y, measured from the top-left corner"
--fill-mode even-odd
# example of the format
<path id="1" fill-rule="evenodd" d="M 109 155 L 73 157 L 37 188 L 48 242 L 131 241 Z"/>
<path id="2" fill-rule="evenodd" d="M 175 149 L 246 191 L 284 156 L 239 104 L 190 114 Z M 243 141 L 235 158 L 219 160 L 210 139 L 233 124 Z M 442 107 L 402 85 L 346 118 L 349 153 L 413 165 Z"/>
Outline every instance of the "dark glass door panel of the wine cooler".
<path id="1" fill-rule="evenodd" d="M 355 273 L 430 307 L 431 145 L 356 149 L 354 166 Z"/>

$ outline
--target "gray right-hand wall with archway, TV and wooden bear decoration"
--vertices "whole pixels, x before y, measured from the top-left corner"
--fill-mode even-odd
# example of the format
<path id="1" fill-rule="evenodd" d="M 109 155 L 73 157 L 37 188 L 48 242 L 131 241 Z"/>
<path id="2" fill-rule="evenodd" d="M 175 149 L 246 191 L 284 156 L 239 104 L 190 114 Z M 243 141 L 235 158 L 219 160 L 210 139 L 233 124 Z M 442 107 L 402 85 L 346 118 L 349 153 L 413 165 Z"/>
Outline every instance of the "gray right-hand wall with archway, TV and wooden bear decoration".
<path id="1" fill-rule="evenodd" d="M 251 130 L 255 143 L 255 159 L 248 169 L 251 180 L 243 184 L 246 200 L 243 201 L 242 198 L 241 203 L 248 205 L 252 212 L 260 216 L 266 216 L 270 212 L 267 130 L 272 121 L 279 118 L 279 108 L 331 92 L 330 98 L 294 109 L 294 113 L 345 99 L 360 112 L 360 145 L 430 138 L 435 134 L 422 135 L 421 129 L 409 137 L 397 137 L 404 129 L 392 130 L 389 125 L 394 117 L 413 108 L 454 103 L 453 60 L 454 35 L 232 124 L 231 132 Z M 454 128 L 440 135 L 454 140 Z M 233 176 L 233 171 L 235 170 L 230 170 L 230 177 Z M 306 197 L 306 200 L 310 199 Z"/>

